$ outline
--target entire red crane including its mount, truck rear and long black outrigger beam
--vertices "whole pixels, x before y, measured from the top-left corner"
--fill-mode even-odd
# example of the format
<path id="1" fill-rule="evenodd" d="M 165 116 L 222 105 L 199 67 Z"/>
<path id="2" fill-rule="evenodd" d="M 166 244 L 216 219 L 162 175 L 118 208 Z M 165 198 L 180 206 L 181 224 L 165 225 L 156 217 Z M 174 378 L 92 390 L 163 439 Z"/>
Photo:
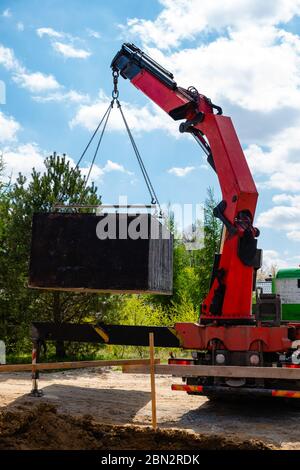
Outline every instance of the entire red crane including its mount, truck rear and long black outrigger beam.
<path id="1" fill-rule="evenodd" d="M 185 362 L 186 385 L 175 386 L 176 390 L 208 396 L 251 393 L 300 398 L 300 380 L 286 378 L 286 373 L 282 379 L 268 374 L 274 367 L 300 368 L 300 354 L 295 354 L 300 323 L 281 321 L 278 296 L 259 296 L 256 315 L 252 314 L 262 259 L 257 248 L 259 230 L 253 226 L 258 193 L 231 119 L 194 87 L 178 87 L 170 72 L 133 44 L 122 46 L 111 67 L 115 76 L 129 79 L 171 118 L 184 121 L 179 131 L 195 137 L 217 174 L 222 201 L 214 215 L 223 222 L 223 234 L 210 290 L 198 323 L 176 323 L 172 328 L 34 323 L 34 344 L 62 340 L 147 346 L 152 331 L 156 346 L 194 351 Z M 180 364 L 180 360 L 170 363 Z M 266 373 L 263 378 L 239 374 L 229 379 L 225 372 L 222 377 L 195 377 L 189 376 L 189 365 L 264 367 Z"/>

